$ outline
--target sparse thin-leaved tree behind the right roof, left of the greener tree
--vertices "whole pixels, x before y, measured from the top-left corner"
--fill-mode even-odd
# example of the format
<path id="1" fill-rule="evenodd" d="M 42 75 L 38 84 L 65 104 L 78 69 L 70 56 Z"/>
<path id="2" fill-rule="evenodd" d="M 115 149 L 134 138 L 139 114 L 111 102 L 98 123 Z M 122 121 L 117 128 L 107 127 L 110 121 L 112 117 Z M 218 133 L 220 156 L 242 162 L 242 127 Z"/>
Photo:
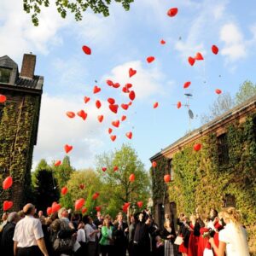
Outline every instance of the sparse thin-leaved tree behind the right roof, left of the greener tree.
<path id="1" fill-rule="evenodd" d="M 212 119 L 217 118 L 234 106 L 234 100 L 230 96 L 229 92 L 219 95 L 217 100 L 213 102 L 212 105 L 209 107 L 209 113 L 201 114 L 201 124 L 206 124 L 207 122 L 210 122 Z"/>

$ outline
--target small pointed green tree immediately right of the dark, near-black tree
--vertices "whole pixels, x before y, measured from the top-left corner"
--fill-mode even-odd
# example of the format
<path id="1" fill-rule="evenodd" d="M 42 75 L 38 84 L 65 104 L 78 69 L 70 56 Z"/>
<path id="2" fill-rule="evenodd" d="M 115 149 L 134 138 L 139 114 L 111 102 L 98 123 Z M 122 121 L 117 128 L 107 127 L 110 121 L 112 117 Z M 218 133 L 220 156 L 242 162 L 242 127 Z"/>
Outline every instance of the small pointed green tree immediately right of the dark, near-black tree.
<path id="1" fill-rule="evenodd" d="M 53 163 L 52 169 L 54 170 L 54 175 L 57 179 L 59 189 L 67 184 L 70 176 L 75 171 L 73 166 L 71 166 L 70 158 L 68 155 L 66 155 L 62 160 L 61 166 L 55 166 Z"/>

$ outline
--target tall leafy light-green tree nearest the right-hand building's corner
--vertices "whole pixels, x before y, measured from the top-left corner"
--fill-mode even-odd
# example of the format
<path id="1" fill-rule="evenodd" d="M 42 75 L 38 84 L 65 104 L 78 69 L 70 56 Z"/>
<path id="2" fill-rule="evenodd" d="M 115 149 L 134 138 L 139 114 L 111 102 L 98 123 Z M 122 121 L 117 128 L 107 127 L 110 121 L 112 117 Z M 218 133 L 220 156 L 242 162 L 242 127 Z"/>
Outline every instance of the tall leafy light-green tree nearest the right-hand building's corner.
<path id="1" fill-rule="evenodd" d="M 123 144 L 122 148 L 109 154 L 96 157 L 96 170 L 103 183 L 105 201 L 108 201 L 109 213 L 117 213 L 125 202 L 136 203 L 137 201 L 148 201 L 149 177 L 143 163 L 138 159 L 136 151 L 130 145 Z M 114 166 L 118 167 L 114 171 Z M 107 171 L 102 172 L 102 167 Z M 135 181 L 130 182 L 131 174 L 135 175 Z"/>

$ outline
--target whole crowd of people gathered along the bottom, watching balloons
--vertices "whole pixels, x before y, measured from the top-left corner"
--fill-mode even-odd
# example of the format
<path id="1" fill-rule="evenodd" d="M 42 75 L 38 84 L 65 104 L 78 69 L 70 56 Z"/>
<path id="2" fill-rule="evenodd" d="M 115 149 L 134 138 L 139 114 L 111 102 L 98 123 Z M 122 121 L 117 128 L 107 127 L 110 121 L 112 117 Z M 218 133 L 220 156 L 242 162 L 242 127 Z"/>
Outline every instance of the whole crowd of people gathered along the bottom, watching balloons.
<path id="1" fill-rule="evenodd" d="M 164 227 L 148 209 L 119 212 L 115 219 L 96 213 L 73 214 L 66 208 L 44 217 L 32 204 L 3 213 L 0 252 L 4 256 L 248 256 L 247 234 L 234 207 L 207 218 L 199 213 L 175 221 L 165 215 Z M 177 227 L 177 229 L 175 229 Z"/>

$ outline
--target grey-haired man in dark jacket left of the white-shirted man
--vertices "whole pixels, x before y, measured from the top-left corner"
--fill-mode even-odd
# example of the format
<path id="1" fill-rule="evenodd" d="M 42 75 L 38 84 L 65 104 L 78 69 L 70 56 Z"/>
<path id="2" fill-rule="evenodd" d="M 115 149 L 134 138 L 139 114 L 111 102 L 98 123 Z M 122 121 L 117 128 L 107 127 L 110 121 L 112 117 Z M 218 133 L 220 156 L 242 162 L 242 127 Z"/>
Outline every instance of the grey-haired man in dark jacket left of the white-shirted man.
<path id="1" fill-rule="evenodd" d="M 3 253 L 3 255 L 14 255 L 13 237 L 15 234 L 15 226 L 19 220 L 20 217 L 17 212 L 9 213 L 9 216 L 7 218 L 7 224 L 3 228 L 3 235 L 1 240 L 1 253 Z"/>

